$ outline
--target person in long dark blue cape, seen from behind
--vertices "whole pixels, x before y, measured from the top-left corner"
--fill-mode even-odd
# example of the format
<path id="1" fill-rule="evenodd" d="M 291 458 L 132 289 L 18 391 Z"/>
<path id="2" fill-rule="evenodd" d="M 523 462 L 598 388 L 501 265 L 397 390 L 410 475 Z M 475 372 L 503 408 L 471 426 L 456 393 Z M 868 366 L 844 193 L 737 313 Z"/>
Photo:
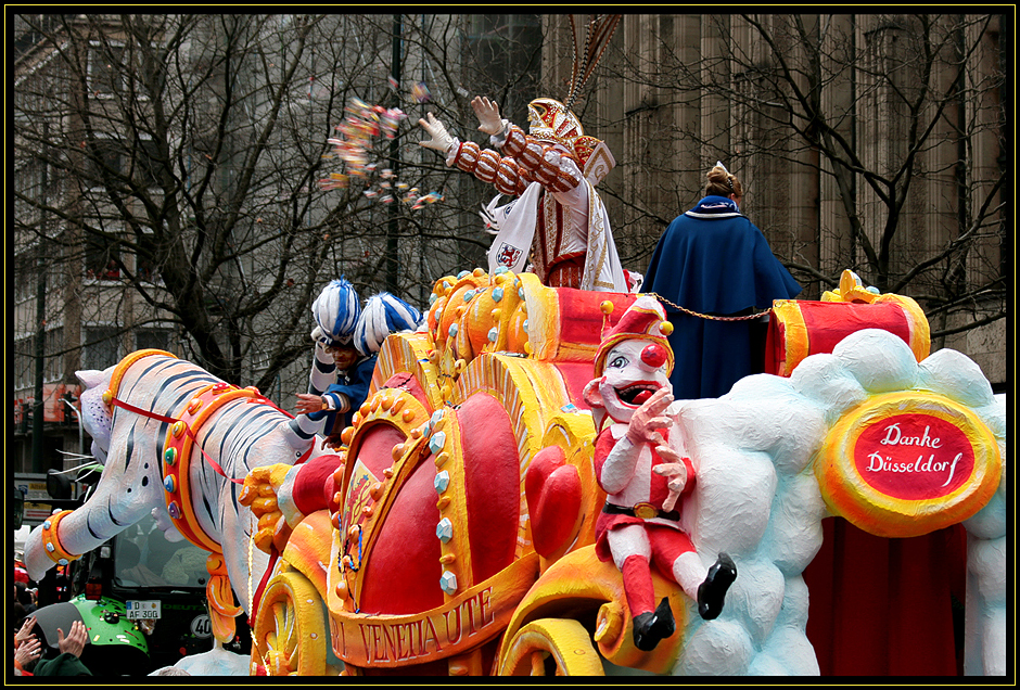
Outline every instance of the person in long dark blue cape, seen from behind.
<path id="1" fill-rule="evenodd" d="M 764 370 L 761 319 L 719 321 L 692 316 L 742 316 L 790 299 L 801 285 L 773 255 L 765 235 L 740 213 L 743 188 L 716 163 L 704 199 L 659 239 L 645 291 L 661 298 L 673 323 L 675 399 L 715 398 L 738 380 Z"/>

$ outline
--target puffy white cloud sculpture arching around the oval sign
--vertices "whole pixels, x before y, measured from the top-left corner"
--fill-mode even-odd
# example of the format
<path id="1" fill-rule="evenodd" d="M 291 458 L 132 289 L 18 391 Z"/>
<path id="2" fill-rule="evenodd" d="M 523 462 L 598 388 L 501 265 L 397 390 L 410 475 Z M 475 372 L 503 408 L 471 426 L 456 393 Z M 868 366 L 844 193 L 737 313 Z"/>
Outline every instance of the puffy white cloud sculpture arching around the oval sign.
<path id="1" fill-rule="evenodd" d="M 841 416 L 870 396 L 928 391 L 969 408 L 994 434 L 1003 475 L 968 533 L 968 675 L 1006 673 L 1006 406 L 980 368 L 955 350 L 918 363 L 898 337 L 864 330 L 832 354 L 806 358 L 789 379 L 756 374 L 717 399 L 677 400 L 671 412 L 698 467 L 685 527 L 705 563 L 719 551 L 739 575 L 723 614 L 691 608 L 677 675 L 817 675 L 805 634 L 802 573 L 818 552 L 829 515 L 813 462 Z"/>

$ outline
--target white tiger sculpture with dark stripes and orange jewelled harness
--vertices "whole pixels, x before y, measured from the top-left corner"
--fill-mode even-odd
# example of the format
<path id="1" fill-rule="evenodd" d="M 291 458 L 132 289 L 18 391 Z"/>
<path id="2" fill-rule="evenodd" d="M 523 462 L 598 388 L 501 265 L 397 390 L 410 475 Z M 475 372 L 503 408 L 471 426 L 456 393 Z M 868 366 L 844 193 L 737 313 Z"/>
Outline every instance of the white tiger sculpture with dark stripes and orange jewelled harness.
<path id="1" fill-rule="evenodd" d="M 204 403 L 209 407 L 203 414 L 196 403 L 203 401 L 203 391 L 238 388 L 162 350 L 139 350 L 105 371 L 77 375 L 84 388 L 81 422 L 103 472 L 85 504 L 53 515 L 31 532 L 25 544 L 29 575 L 41 579 L 50 567 L 79 558 L 151 513 L 168 540 L 188 534 L 190 541 L 211 551 L 207 595 L 214 614 L 251 614 L 252 590 L 269 559 L 250 549 L 256 521 L 238 501 L 241 483 L 256 467 L 323 455 L 315 437 L 299 434 L 290 414 L 253 388 L 226 396 L 231 399 L 215 409 Z M 187 457 L 175 458 L 176 467 L 167 464 L 175 426 L 189 420 L 193 447 Z M 170 468 L 179 472 L 175 482 L 165 478 Z M 179 490 L 181 485 L 187 485 L 186 493 Z M 181 502 L 184 494 L 188 500 Z M 240 609 L 233 606 L 231 587 Z M 214 632 L 226 641 L 233 634 L 232 619 L 217 625 L 216 618 Z"/>

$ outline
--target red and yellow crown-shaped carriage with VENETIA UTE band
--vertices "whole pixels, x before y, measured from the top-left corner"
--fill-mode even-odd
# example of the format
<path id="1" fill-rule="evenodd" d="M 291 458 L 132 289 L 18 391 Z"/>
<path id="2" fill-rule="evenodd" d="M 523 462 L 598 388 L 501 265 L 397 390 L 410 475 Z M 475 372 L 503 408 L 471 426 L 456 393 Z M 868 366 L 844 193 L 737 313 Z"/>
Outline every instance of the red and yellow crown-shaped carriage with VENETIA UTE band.
<path id="1" fill-rule="evenodd" d="M 621 310 L 633 299 L 609 297 Z M 267 589 L 277 615 L 259 615 L 256 647 L 281 660 L 270 673 L 329 673 L 332 656 L 346 674 L 493 670 L 500 635 L 548 564 L 524 490 L 541 448 L 560 447 L 582 487 L 569 545 L 594 541 L 595 430 L 575 401 L 605 298 L 510 272 L 437 281 L 429 331 L 392 335 L 380 352 L 369 397 L 342 434 L 329 514 L 294 532 L 324 571 L 289 544 Z M 305 609 L 323 612 L 332 655 L 309 649 L 313 628 L 327 625 L 317 615 L 296 631 Z"/>

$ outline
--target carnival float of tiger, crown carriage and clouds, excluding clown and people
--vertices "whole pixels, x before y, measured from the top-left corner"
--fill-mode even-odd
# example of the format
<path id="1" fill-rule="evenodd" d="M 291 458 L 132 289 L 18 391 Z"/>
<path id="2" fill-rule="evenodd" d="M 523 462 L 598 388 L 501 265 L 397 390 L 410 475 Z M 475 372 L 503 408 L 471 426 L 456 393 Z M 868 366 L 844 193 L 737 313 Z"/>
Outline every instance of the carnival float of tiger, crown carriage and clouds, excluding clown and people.
<path id="1" fill-rule="evenodd" d="M 434 294 L 426 327 L 384 342 L 332 449 L 294 448 L 289 416 L 257 392 L 166 354 L 85 372 L 106 470 L 86 506 L 31 535 L 30 574 L 155 509 L 211 552 L 217 636 L 250 616 L 252 674 L 813 675 L 804 571 L 823 521 L 883 539 L 961 525 L 966 672 L 1005 673 L 1005 409 L 964 355 L 928 355 L 913 301 L 864 294 L 847 272 L 825 301 L 800 303 L 800 320 L 775 318 L 785 375 L 668 406 L 670 444 L 697 474 L 679 524 L 705 567 L 725 552 L 737 575 L 704 619 L 653 568 L 675 632 L 643 651 L 622 574 L 596 555 L 607 494 L 600 410 L 585 395 L 602 334 L 638 296 L 482 269 Z M 900 305 L 883 328 L 812 349 L 831 334 L 803 314 L 883 302 Z M 790 355 L 799 348 L 814 354 Z M 154 393 L 168 379 L 173 393 Z M 239 426 L 263 433 L 226 431 Z M 286 509 L 278 495 L 301 471 L 321 488 Z"/>

